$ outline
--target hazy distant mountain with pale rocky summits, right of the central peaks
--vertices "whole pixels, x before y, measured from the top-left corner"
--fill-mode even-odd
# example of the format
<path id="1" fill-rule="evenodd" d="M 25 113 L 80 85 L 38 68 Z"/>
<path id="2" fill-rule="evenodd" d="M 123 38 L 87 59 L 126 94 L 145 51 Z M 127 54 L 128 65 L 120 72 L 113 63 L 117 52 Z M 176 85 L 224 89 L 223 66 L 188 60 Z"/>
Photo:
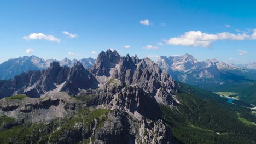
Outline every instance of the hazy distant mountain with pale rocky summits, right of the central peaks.
<path id="1" fill-rule="evenodd" d="M 252 73 L 251 70 L 219 62 L 216 59 L 199 62 L 189 54 L 161 56 L 156 63 L 161 69 L 168 71 L 173 79 L 202 87 L 213 83 L 247 81 L 243 75 Z"/>

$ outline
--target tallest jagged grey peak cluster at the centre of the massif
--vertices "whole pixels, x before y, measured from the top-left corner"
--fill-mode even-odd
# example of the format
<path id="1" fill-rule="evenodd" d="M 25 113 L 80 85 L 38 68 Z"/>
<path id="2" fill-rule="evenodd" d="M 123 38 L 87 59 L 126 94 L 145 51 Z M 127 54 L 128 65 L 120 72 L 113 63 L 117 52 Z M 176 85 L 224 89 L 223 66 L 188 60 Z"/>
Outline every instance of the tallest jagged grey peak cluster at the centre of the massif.
<path id="1" fill-rule="evenodd" d="M 102 66 L 100 59 L 114 59 L 111 64 L 105 64 Z M 150 97 L 155 97 L 158 101 L 166 105 L 176 105 L 177 103 L 173 100 L 173 95 L 177 91 L 177 83 L 174 82 L 172 77 L 165 71 L 162 71 L 154 61 L 149 58 L 138 59 L 137 56 L 130 57 L 126 55 L 120 57 L 117 53 L 108 50 L 106 53 L 102 52 L 96 63 L 92 66 L 91 71 L 94 73 L 98 81 L 101 81 L 101 85 L 106 85 L 108 81 L 113 79 L 120 80 L 126 86 L 133 86 L 141 88 Z M 119 62 L 118 62 L 119 59 Z M 108 70 L 107 73 L 100 73 L 99 71 Z M 98 71 L 98 72 L 97 72 Z M 102 81 L 104 77 L 104 81 Z M 160 95 L 158 89 L 165 89 L 167 94 Z M 168 97 L 168 98 L 166 98 Z"/>

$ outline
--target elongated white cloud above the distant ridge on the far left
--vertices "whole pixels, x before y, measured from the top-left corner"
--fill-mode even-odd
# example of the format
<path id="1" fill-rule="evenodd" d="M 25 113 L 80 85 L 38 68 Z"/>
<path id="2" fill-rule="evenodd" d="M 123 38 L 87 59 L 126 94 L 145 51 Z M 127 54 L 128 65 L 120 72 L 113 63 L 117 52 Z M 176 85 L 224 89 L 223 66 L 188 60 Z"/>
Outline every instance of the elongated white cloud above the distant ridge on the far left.
<path id="1" fill-rule="evenodd" d="M 43 33 L 31 33 L 28 36 L 24 36 L 23 39 L 26 39 L 26 40 L 44 39 L 44 40 L 55 41 L 57 43 L 60 43 L 60 39 L 55 38 L 53 35 L 45 35 Z"/>

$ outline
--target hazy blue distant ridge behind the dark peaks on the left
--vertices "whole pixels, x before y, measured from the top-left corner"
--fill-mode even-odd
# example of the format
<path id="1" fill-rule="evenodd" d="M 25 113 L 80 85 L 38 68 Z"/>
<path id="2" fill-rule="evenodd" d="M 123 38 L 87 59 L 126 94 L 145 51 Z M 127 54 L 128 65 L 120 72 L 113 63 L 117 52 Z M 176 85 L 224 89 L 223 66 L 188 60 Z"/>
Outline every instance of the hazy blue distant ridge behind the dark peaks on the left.
<path id="1" fill-rule="evenodd" d="M 62 61 L 57 61 L 55 59 L 39 58 L 37 56 L 24 56 L 19 58 L 12 58 L 6 62 L 0 64 L 0 80 L 12 79 L 15 75 L 27 72 L 29 70 L 43 70 L 50 67 L 52 62 L 60 63 L 60 66 L 73 67 L 77 59 L 72 61 L 68 58 L 64 58 Z M 90 68 L 92 64 L 95 63 L 93 58 L 83 58 L 79 62 L 85 67 Z"/>

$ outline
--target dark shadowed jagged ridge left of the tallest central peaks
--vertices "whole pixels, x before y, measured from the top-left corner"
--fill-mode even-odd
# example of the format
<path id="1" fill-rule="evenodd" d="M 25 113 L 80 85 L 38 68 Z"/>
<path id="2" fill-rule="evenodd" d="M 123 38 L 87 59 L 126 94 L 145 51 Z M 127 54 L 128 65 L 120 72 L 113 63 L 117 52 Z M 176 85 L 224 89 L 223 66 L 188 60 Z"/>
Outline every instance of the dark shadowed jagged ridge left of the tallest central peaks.
<path id="1" fill-rule="evenodd" d="M 0 98 L 26 94 L 28 97 L 41 97 L 50 91 L 67 91 L 77 94 L 79 89 L 97 88 L 98 82 L 82 64 L 74 67 L 60 67 L 52 62 L 50 68 L 43 71 L 28 71 L 14 79 L 0 81 Z"/>

